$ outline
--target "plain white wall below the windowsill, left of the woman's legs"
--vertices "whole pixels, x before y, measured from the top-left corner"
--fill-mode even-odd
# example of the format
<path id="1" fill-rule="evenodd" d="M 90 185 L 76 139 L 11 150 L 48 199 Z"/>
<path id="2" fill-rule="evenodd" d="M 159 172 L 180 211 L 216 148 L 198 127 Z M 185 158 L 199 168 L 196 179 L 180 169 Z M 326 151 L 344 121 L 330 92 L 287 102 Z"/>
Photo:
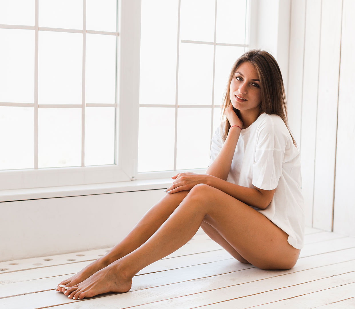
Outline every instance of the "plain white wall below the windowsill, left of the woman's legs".
<path id="1" fill-rule="evenodd" d="M 0 261 L 113 246 L 165 194 L 148 190 L 0 203 Z"/>

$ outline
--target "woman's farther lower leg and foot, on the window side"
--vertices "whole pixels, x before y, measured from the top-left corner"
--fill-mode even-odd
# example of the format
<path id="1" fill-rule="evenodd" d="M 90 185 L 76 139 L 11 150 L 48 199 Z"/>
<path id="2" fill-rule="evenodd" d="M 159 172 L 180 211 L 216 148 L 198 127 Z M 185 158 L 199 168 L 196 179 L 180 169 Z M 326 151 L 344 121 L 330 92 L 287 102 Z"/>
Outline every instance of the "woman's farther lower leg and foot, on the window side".
<path id="1" fill-rule="evenodd" d="M 64 293 L 66 288 L 59 287 L 59 285 L 66 287 L 74 286 L 75 284 L 84 281 L 95 272 L 110 265 L 112 262 L 136 250 L 154 234 L 166 219 L 169 218 L 187 193 L 189 193 L 189 191 L 181 191 L 171 195 L 166 194 L 157 204 L 149 209 L 120 243 L 114 246 L 109 252 L 107 252 L 107 254 L 83 268 L 83 270 L 76 275 L 60 282 L 56 290 Z"/>

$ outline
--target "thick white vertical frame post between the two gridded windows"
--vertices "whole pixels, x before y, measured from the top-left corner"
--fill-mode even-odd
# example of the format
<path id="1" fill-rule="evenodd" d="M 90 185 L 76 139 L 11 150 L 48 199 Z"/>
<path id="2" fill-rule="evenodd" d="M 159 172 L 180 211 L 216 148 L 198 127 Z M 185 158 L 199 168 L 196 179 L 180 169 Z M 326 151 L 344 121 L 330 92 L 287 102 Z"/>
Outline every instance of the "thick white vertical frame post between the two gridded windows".
<path id="1" fill-rule="evenodd" d="M 121 0 L 120 4 L 125 14 L 120 15 L 119 163 L 134 180 L 138 162 L 141 1 Z"/>

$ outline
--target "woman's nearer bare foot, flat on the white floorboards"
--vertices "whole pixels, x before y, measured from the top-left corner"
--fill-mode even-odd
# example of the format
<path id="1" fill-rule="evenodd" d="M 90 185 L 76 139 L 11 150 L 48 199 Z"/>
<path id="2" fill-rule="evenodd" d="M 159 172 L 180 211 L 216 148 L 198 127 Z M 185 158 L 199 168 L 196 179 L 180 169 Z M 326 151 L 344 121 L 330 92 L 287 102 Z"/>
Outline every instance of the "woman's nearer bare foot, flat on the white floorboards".
<path id="1" fill-rule="evenodd" d="M 83 299 L 108 292 L 125 293 L 131 287 L 132 277 L 125 275 L 119 262 L 114 262 L 83 282 L 68 288 L 64 294 L 70 299 Z"/>

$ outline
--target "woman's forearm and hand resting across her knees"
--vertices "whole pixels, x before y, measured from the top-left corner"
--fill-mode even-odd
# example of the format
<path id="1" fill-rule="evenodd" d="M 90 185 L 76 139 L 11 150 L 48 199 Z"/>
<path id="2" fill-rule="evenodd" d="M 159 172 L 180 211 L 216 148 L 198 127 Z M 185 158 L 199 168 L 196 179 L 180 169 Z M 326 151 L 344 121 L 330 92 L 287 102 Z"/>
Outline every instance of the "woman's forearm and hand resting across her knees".
<path id="1" fill-rule="evenodd" d="M 233 196 L 234 198 L 249 206 L 257 207 L 259 209 L 265 209 L 268 207 L 276 190 L 262 190 L 256 187 L 243 187 L 222 180 L 218 177 L 207 174 L 195 174 L 191 172 L 180 173 L 171 178 L 174 179 L 173 185 L 171 185 L 166 190 L 170 194 L 183 190 L 191 190 L 193 186 L 197 185 L 198 183 L 204 183 L 208 186 L 223 191 L 230 196 Z"/>

